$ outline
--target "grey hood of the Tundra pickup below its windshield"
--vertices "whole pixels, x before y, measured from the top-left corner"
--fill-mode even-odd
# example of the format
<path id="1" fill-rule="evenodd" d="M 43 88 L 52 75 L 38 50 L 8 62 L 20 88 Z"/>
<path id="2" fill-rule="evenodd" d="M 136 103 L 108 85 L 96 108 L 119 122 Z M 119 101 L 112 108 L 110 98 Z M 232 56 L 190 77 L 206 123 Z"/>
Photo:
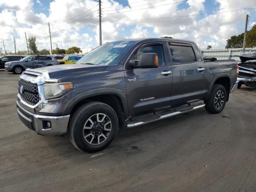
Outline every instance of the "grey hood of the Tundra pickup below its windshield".
<path id="1" fill-rule="evenodd" d="M 60 80 L 62 78 L 67 78 L 71 76 L 79 76 L 83 74 L 100 72 L 100 71 L 103 71 L 105 68 L 106 66 L 98 66 L 98 65 L 65 64 L 65 65 L 41 67 L 33 70 L 34 71 L 47 70 L 50 78 Z"/>

